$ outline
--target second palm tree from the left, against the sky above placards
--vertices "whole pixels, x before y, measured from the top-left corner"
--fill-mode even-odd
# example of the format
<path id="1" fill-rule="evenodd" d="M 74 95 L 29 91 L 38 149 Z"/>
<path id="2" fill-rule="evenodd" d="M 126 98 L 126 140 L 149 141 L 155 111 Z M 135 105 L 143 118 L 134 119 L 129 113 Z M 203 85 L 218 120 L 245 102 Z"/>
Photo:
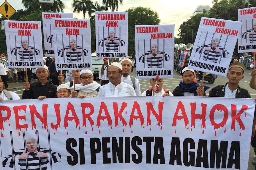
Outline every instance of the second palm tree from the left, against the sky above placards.
<path id="1" fill-rule="evenodd" d="M 72 7 L 74 7 L 73 12 L 83 12 L 83 19 L 85 19 L 85 14 L 88 11 L 89 16 L 93 13 L 93 2 L 91 0 L 73 0 Z"/>

